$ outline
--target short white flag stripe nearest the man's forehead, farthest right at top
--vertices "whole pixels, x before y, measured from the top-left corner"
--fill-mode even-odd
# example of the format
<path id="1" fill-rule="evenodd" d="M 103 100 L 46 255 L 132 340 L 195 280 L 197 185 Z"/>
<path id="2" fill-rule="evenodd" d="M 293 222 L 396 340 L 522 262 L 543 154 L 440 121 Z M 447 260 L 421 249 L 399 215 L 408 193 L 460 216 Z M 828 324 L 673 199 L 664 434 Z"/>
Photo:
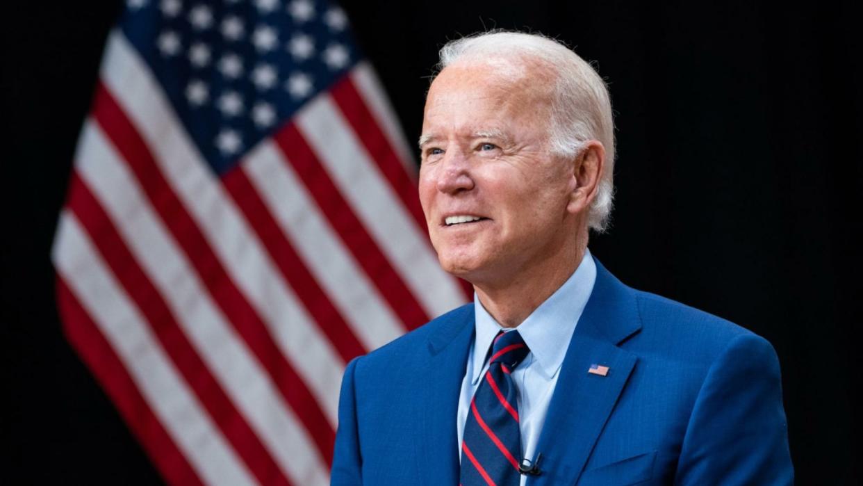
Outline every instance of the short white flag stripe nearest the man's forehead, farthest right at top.
<path id="1" fill-rule="evenodd" d="M 362 98 L 369 104 L 369 110 L 375 116 L 378 125 L 383 129 L 390 145 L 393 146 L 399 161 L 405 166 L 411 180 L 417 180 L 416 151 L 412 149 L 413 144 L 406 142 L 401 131 L 399 119 L 395 116 L 393 105 L 389 103 L 387 93 L 381 88 L 381 80 L 378 79 L 375 69 L 367 61 L 362 61 L 350 72 L 356 89 Z"/>

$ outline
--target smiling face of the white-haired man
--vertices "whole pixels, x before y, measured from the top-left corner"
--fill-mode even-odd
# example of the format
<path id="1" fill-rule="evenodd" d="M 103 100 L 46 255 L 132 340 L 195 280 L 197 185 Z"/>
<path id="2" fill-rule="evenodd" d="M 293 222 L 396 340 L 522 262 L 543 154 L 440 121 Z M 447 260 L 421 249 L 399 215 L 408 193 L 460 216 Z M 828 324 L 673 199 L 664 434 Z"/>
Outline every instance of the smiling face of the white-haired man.
<path id="1" fill-rule="evenodd" d="M 548 150 L 551 87 L 526 72 L 513 81 L 449 66 L 425 102 L 419 199 L 431 244 L 446 271 L 475 285 L 548 268 L 576 233 L 572 164 Z"/>

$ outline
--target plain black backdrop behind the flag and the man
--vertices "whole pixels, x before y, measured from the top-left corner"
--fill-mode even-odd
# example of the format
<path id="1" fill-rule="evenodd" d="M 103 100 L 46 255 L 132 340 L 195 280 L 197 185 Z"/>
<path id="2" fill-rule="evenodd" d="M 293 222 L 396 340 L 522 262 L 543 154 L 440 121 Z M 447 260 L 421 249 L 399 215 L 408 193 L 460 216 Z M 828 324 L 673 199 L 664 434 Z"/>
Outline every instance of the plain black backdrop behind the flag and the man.
<path id="1" fill-rule="evenodd" d="M 853 2 L 344 5 L 406 136 L 436 51 L 482 28 L 557 36 L 608 79 L 621 280 L 768 338 L 800 484 L 855 484 L 863 62 Z M 120 3 L 3 6 L 3 467 L 32 483 L 159 483 L 66 343 L 49 248 Z M 0 482 L 5 482 L 0 479 Z"/>

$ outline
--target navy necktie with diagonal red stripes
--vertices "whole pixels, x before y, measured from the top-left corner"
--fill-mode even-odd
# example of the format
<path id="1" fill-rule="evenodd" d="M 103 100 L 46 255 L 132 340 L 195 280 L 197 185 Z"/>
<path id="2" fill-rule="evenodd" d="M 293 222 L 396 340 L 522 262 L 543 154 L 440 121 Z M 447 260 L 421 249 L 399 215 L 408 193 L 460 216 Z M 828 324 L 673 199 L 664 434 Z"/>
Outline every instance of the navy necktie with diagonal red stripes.
<path id="1" fill-rule="evenodd" d="M 462 440 L 462 486 L 518 486 L 521 432 L 510 376 L 530 350 L 519 331 L 494 338 L 488 371 L 470 401 Z"/>

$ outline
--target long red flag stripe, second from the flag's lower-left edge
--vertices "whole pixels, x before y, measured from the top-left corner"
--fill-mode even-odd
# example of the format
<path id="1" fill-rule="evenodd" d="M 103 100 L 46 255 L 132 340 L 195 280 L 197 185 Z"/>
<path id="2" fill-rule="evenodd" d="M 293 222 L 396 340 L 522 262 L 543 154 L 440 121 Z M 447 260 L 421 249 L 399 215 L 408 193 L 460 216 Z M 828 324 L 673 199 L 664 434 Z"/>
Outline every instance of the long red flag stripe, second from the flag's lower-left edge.
<path id="1" fill-rule="evenodd" d="M 267 448 L 261 444 L 255 432 L 243 420 L 243 415 L 234 407 L 224 389 L 198 357 L 161 293 L 135 261 L 135 256 L 126 248 L 123 237 L 117 232 L 117 228 L 111 223 L 84 180 L 73 172 L 69 186 L 67 207 L 90 235 L 91 241 L 117 277 L 117 281 L 135 301 L 135 305 L 147 319 L 186 383 L 200 398 L 206 412 L 261 483 L 287 484 L 287 478 L 279 470 Z"/>

